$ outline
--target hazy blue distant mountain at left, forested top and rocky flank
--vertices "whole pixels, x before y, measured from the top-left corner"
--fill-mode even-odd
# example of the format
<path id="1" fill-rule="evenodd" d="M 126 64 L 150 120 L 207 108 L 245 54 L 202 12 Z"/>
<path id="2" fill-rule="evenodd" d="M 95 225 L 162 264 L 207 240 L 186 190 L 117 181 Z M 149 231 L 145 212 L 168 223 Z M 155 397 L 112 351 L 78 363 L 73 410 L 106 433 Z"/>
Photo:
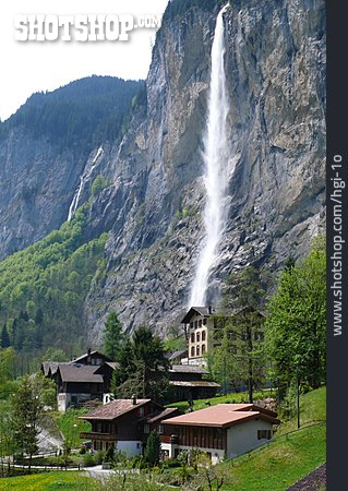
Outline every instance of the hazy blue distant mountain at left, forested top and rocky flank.
<path id="1" fill-rule="evenodd" d="M 96 164 L 103 160 L 96 145 L 120 136 L 142 87 L 110 76 L 83 79 L 34 94 L 0 124 L 0 259 L 67 219 L 84 169 L 96 155 Z"/>

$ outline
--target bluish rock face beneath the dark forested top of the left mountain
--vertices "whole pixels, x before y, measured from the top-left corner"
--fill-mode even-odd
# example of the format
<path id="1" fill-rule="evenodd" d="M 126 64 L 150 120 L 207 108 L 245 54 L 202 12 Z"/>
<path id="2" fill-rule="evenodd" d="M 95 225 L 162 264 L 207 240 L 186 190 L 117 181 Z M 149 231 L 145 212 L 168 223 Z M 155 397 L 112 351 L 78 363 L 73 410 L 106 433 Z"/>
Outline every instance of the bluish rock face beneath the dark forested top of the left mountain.
<path id="1" fill-rule="evenodd" d="M 22 128 L 0 145 L 0 259 L 31 246 L 68 217 L 85 161 Z"/>

